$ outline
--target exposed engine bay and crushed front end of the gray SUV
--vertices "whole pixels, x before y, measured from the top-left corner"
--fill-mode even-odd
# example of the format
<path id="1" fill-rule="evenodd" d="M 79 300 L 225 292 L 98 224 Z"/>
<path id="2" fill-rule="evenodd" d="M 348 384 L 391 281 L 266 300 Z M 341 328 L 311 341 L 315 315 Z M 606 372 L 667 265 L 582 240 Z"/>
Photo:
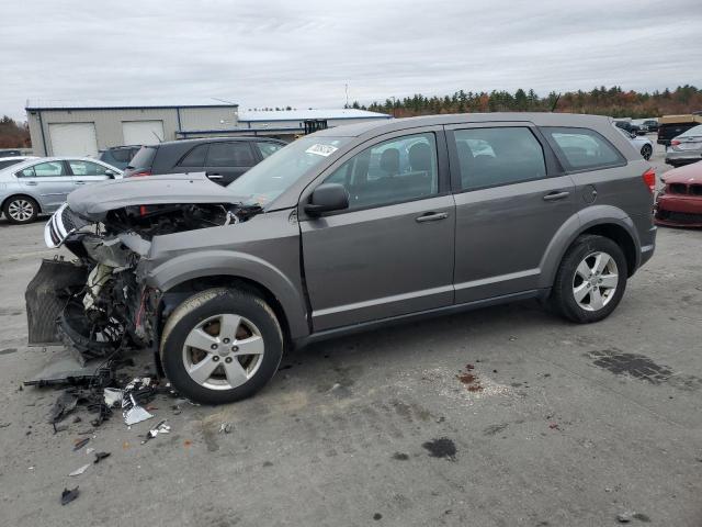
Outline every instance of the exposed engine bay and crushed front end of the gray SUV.
<path id="1" fill-rule="evenodd" d="M 76 260 L 44 260 L 27 287 L 30 345 L 64 345 L 82 362 L 120 350 L 156 349 L 159 291 L 139 262 L 156 236 L 245 222 L 261 208 L 234 203 L 128 205 L 91 221 L 63 205 L 45 227 L 48 247 Z"/>

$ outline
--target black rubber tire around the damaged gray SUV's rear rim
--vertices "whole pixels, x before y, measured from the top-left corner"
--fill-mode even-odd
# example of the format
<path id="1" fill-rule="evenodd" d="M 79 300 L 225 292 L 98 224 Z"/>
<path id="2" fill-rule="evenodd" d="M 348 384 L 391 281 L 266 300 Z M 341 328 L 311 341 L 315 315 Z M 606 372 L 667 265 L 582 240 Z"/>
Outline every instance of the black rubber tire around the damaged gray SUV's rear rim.
<path id="1" fill-rule="evenodd" d="M 576 269 L 588 255 L 605 253 L 616 264 L 618 282 L 607 303 L 597 311 L 587 311 L 575 298 Z M 556 313 L 570 322 L 589 324 L 607 318 L 618 306 L 626 289 L 627 267 L 622 248 L 610 238 L 597 235 L 579 236 L 568 248 L 553 284 L 552 305 Z"/>

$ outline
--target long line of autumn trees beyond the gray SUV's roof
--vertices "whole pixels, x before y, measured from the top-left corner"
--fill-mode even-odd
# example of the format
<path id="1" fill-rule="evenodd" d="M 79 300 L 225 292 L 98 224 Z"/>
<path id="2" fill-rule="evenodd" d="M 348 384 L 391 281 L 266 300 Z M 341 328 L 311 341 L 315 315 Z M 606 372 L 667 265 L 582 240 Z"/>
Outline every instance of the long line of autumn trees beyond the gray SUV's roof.
<path id="1" fill-rule="evenodd" d="M 389 113 L 396 117 L 430 115 L 437 113 L 471 112 L 570 112 L 610 115 L 613 117 L 658 117 L 660 115 L 691 113 L 702 110 L 702 89 L 678 86 L 675 90 L 638 92 L 624 91 L 619 86 L 604 86 L 591 91 L 568 91 L 539 96 L 534 90 L 518 89 L 509 92 L 492 90 L 474 92 L 458 90 L 451 96 L 389 98 L 385 102 L 347 105 L 372 112 Z"/>

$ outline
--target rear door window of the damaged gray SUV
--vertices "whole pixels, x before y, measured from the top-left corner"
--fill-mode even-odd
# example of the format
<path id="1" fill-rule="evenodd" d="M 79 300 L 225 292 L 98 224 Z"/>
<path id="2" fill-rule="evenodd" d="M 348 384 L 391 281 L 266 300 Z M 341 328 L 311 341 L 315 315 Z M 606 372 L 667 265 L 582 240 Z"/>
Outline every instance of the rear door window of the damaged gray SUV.
<path id="1" fill-rule="evenodd" d="M 546 177 L 544 150 L 526 127 L 456 130 L 454 139 L 462 190 Z"/>

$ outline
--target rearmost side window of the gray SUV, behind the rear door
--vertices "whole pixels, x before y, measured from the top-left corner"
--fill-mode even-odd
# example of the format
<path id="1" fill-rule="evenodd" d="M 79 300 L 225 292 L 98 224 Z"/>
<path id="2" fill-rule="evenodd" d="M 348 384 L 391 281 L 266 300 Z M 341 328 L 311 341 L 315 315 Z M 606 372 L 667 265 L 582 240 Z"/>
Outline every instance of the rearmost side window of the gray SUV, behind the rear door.
<path id="1" fill-rule="evenodd" d="M 569 170 L 625 165 L 626 159 L 603 136 L 590 128 L 543 126 L 542 132 Z"/>

